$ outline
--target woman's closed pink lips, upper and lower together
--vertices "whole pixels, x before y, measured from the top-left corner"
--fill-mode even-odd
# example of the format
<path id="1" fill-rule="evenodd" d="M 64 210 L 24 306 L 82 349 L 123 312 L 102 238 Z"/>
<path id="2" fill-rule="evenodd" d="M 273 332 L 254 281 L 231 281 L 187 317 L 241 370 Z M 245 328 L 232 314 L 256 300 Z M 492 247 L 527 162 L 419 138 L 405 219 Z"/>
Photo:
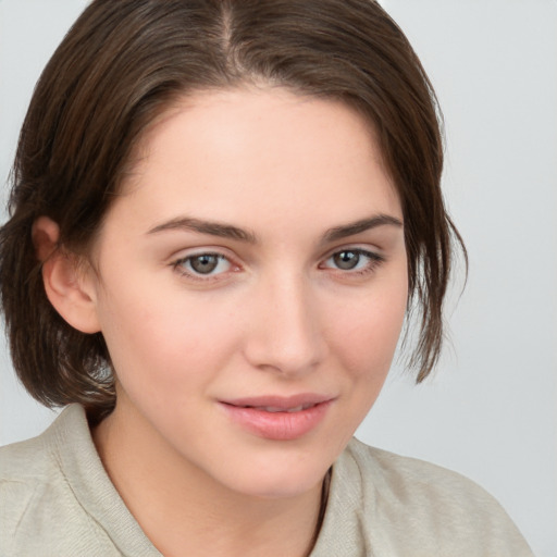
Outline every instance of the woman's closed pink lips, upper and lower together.
<path id="1" fill-rule="evenodd" d="M 325 418 L 333 398 L 315 394 L 256 397 L 220 403 L 235 426 L 272 441 L 300 438 Z"/>

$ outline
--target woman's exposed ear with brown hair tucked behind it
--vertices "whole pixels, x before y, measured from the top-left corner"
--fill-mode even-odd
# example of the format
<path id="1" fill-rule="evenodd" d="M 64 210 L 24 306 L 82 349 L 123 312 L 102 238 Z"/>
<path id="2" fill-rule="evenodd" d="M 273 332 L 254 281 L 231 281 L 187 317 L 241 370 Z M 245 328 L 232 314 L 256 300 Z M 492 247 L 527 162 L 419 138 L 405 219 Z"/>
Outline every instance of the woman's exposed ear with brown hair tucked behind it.
<path id="1" fill-rule="evenodd" d="M 59 244 L 60 227 L 48 216 L 34 222 L 32 234 L 50 304 L 74 329 L 82 333 L 99 332 L 92 270 Z"/>

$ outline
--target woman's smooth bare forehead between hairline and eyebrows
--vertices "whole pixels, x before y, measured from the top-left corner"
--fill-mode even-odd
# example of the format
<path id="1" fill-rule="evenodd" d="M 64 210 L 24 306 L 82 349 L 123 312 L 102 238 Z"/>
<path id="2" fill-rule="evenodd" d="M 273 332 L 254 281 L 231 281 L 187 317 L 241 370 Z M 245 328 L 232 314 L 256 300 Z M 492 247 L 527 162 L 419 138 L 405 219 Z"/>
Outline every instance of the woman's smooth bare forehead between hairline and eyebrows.
<path id="1" fill-rule="evenodd" d="M 343 211 L 401 216 L 369 123 L 342 102 L 276 88 L 181 99 L 145 133 L 123 194 L 117 202 L 143 200 L 151 224 L 172 211 L 290 226 Z"/>

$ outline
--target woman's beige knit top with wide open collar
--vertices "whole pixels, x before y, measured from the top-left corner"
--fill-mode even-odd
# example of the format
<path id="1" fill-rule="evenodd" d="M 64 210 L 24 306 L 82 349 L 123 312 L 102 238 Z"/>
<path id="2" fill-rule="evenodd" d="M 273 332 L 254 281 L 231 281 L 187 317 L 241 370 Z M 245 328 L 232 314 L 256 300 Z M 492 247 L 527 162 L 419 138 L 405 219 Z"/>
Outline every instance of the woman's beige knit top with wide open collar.
<path id="1" fill-rule="evenodd" d="M 0 448 L 0 556 L 160 557 L 110 482 L 78 405 Z M 210 552 L 208 553 L 210 555 Z M 352 440 L 333 467 L 311 557 L 531 557 L 471 481 Z"/>

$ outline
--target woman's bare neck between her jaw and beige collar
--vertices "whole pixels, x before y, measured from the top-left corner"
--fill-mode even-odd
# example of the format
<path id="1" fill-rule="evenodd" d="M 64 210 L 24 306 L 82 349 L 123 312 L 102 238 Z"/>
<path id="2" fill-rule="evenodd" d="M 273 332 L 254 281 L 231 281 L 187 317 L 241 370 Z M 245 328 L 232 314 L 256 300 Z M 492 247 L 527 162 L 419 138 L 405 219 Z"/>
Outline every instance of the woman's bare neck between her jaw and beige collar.
<path id="1" fill-rule="evenodd" d="M 140 416 L 119 406 L 94 431 L 103 466 L 147 537 L 165 557 L 307 556 L 322 482 L 294 497 L 234 492 L 169 448 Z"/>

